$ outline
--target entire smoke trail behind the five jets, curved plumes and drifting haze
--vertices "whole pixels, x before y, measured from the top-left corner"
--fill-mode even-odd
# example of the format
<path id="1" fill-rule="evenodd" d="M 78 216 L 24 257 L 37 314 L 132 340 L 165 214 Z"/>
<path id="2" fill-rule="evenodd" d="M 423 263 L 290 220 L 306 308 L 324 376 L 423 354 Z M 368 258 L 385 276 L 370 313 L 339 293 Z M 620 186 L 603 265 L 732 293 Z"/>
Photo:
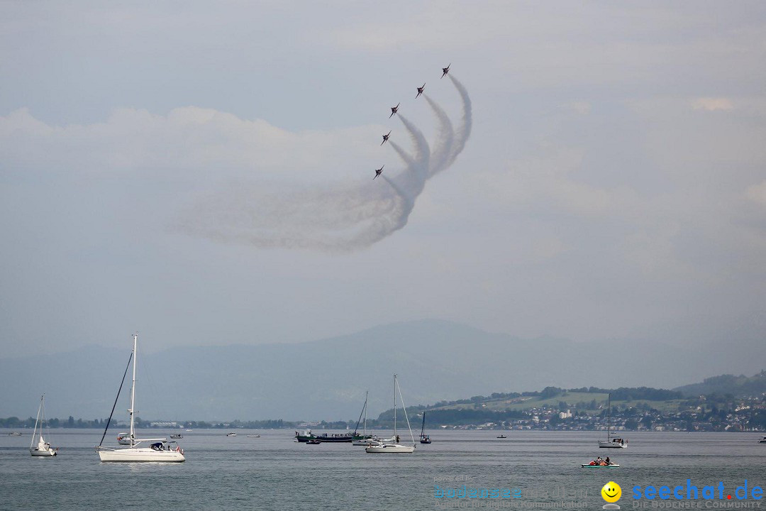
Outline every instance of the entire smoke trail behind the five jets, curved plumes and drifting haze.
<path id="1" fill-rule="evenodd" d="M 389 171 L 376 182 L 352 185 L 238 183 L 197 201 L 175 228 L 214 241 L 264 248 L 355 251 L 381 241 L 407 224 L 427 179 L 447 169 L 470 136 L 470 98 L 465 87 L 448 76 L 463 101 L 462 123 L 455 131 L 444 110 L 426 97 L 440 126 L 432 152 L 420 129 L 398 114 L 414 147 L 410 154 L 389 141 L 407 166 L 404 172 Z"/>

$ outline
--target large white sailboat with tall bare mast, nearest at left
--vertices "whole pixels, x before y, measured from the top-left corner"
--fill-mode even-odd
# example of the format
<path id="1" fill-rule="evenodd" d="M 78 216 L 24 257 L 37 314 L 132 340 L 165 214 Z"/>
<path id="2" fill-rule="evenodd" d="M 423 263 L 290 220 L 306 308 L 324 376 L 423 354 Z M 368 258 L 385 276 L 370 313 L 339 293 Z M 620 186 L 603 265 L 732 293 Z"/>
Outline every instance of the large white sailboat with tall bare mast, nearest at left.
<path id="1" fill-rule="evenodd" d="M 112 421 L 112 415 L 114 414 L 114 408 L 117 405 L 117 399 L 114 400 L 114 406 L 112 407 L 112 413 L 109 415 L 109 420 L 106 421 L 106 428 L 103 430 L 103 436 L 101 437 L 101 443 L 96 447 L 101 461 L 103 462 L 147 462 L 147 461 L 159 461 L 162 463 L 180 463 L 185 461 L 184 451 L 175 442 L 168 442 L 165 438 L 136 438 L 136 350 L 138 348 L 138 334 L 133 335 L 133 352 L 128 359 L 128 367 L 130 362 L 133 361 L 133 385 L 130 388 L 130 437 L 129 447 L 104 447 L 103 439 L 106 437 L 106 430 L 109 429 L 109 423 Z M 123 383 L 125 382 L 125 375 L 128 372 L 128 367 L 125 368 L 123 374 L 123 382 L 119 384 L 119 390 L 117 391 L 117 398 L 119 399 L 119 391 L 123 389 Z M 149 447 L 139 447 L 139 444 L 149 442 Z"/>

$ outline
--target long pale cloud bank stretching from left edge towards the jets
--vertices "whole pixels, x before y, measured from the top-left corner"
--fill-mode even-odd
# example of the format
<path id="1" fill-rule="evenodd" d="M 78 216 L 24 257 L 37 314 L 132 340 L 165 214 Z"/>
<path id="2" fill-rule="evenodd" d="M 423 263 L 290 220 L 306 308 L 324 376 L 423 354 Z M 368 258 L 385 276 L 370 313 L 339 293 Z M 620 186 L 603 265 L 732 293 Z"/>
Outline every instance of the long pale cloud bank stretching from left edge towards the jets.
<path id="1" fill-rule="evenodd" d="M 183 106 L 167 115 L 118 108 L 105 122 L 55 126 L 27 109 L 0 116 L 0 158 L 9 169 L 183 175 L 304 182 L 346 177 L 369 161 L 382 126 L 289 131 L 265 120 Z M 375 149 L 375 147 L 372 147 Z M 192 175 L 189 175 L 189 172 Z"/>

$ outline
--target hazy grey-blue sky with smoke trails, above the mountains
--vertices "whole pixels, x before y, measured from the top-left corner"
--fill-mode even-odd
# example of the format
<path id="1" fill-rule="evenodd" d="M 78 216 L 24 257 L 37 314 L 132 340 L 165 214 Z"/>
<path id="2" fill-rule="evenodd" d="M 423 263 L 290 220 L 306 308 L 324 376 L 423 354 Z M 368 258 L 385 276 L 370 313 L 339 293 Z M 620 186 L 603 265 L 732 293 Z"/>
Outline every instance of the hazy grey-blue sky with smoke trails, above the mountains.
<path id="1" fill-rule="evenodd" d="M 0 353 L 760 335 L 764 62 L 763 2 L 0 2 Z"/>

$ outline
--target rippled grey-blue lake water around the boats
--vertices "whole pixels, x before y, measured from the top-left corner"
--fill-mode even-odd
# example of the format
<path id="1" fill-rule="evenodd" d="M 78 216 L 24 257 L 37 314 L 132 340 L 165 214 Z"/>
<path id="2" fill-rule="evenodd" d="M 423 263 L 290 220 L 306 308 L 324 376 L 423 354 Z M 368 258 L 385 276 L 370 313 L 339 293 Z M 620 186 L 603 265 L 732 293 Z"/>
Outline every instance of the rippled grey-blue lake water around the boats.
<path id="1" fill-rule="evenodd" d="M 118 432 L 110 431 L 111 444 Z M 417 444 L 414 454 L 366 454 L 351 444 L 298 444 L 290 430 L 258 431 L 260 438 L 196 430 L 178 441 L 183 464 L 103 464 L 93 450 L 102 431 L 52 430 L 59 456 L 45 459 L 29 456 L 31 431 L 0 430 L 0 509 L 439 509 L 447 499 L 435 498 L 434 486 L 463 484 L 522 492 L 480 499 L 485 507 L 564 501 L 601 509 L 610 480 L 622 486 L 618 504 L 633 509 L 636 485 L 673 488 L 690 479 L 702 491 L 721 481 L 732 495 L 745 480 L 748 491 L 766 486 L 766 444 L 755 433 L 630 433 L 627 449 L 599 449 L 597 432 L 506 431 L 506 439 L 499 431 L 427 432 L 434 443 Z M 598 455 L 621 467 L 580 467 Z M 642 502 L 684 502 L 670 499 Z M 468 501 L 449 503 L 476 502 Z"/>

